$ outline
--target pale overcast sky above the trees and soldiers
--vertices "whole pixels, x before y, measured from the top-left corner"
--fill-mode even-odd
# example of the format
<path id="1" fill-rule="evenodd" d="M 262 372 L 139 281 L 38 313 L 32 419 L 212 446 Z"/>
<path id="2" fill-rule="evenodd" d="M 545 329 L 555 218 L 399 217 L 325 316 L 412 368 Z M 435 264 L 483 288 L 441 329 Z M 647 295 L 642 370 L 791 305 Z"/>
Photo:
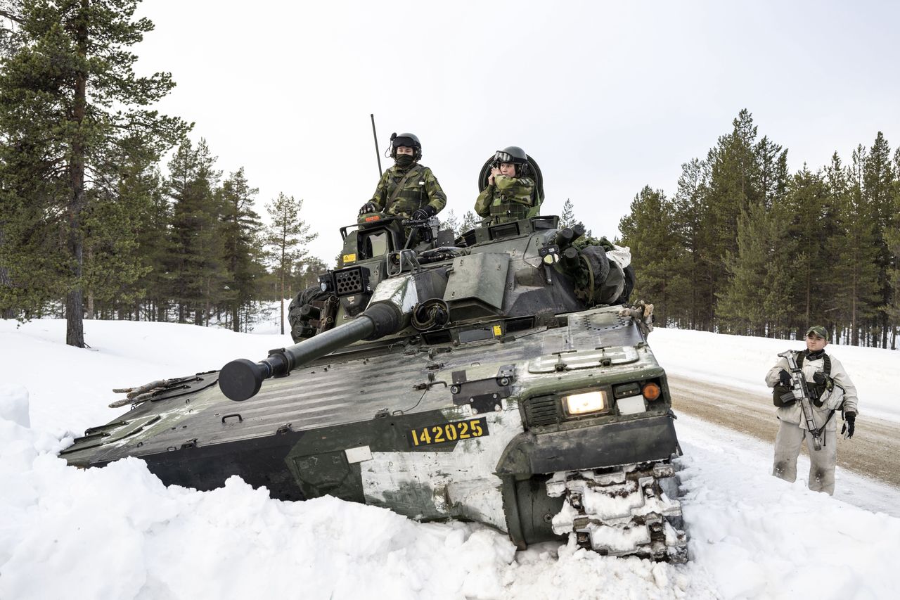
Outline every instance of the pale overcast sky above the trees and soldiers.
<path id="1" fill-rule="evenodd" d="M 257 210 L 303 198 L 330 260 L 414 132 L 462 215 L 494 150 L 518 145 L 566 198 L 617 234 L 645 186 L 673 195 L 742 108 L 788 148 L 791 171 L 850 159 L 878 131 L 900 143 L 900 8 L 890 2 L 274 2 L 149 0 L 138 71 L 171 71 L 160 109 L 196 123 Z M 382 158 L 382 166 L 391 164 Z M 443 214 L 442 214 L 443 215 Z"/>

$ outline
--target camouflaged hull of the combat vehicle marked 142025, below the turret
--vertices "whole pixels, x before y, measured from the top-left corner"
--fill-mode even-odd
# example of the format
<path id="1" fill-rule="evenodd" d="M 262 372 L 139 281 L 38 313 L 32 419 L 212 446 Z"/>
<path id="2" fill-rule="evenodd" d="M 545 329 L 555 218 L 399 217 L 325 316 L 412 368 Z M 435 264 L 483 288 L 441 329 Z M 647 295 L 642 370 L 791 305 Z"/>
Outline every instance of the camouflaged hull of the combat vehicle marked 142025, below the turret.
<path id="1" fill-rule="evenodd" d="M 571 512 L 571 493 L 548 494 L 549 481 L 652 469 L 679 453 L 665 372 L 618 313 L 555 315 L 554 326 L 467 342 L 355 346 L 242 403 L 221 394 L 218 372 L 199 374 L 61 456 L 79 467 L 137 457 L 166 485 L 210 490 L 238 476 L 283 500 L 332 495 L 472 520 L 521 548 L 562 539 L 554 515 Z M 647 383 L 658 398 L 638 393 Z M 603 409 L 570 414 L 563 396 L 591 391 Z"/>

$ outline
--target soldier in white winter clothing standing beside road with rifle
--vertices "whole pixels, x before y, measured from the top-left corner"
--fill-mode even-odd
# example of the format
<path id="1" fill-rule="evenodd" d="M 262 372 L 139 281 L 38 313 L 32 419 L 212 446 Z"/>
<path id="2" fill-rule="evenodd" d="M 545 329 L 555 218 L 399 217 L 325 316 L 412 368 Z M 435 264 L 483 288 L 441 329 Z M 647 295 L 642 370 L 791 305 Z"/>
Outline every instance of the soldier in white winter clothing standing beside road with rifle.
<path id="1" fill-rule="evenodd" d="M 813 434 L 806 428 L 800 403 L 783 395 L 790 391 L 791 378 L 788 360 L 781 358 L 766 374 L 766 385 L 774 388 L 773 399 L 779 406 L 779 432 L 775 437 L 775 464 L 772 475 L 794 482 L 797 479 L 797 455 L 806 439 L 809 450 L 809 489 L 834 494 L 834 466 L 837 462 L 837 419 L 835 411 L 843 413 L 841 430 L 845 438 L 853 436 L 857 415 L 856 386 L 844 370 L 841 361 L 825 354 L 828 330 L 822 325 L 806 332 L 806 350 L 797 354 L 797 366 L 803 370 L 807 385 L 816 397 L 810 403 L 815 425 L 822 429 L 822 450 L 815 450 Z"/>

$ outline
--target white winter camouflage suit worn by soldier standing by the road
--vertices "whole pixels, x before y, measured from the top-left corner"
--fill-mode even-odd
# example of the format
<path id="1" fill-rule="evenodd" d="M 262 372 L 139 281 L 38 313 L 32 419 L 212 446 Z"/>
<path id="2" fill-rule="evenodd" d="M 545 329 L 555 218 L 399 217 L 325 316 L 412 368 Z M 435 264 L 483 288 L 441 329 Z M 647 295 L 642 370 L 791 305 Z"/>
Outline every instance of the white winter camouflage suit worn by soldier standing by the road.
<path id="1" fill-rule="evenodd" d="M 813 408 L 815 426 L 825 429 L 822 435 L 822 450 L 813 449 L 813 436 L 806 431 L 806 419 L 803 418 L 803 410 L 799 402 L 792 402 L 778 409 L 779 432 L 775 436 L 775 464 L 772 475 L 785 481 L 794 482 L 797 479 L 797 455 L 800 453 L 800 445 L 806 438 L 806 449 L 809 450 L 809 489 L 815 492 L 834 494 L 834 465 L 837 462 L 837 420 L 841 411 L 841 405 L 846 411 L 857 410 L 856 386 L 847 376 L 841 361 L 829 355 L 832 361 L 831 377 L 834 381 L 833 389 L 825 391 L 822 395 L 822 406 Z M 766 374 L 766 385 L 774 387 L 779 384 L 779 371 L 788 368 L 788 360 L 781 358 Z M 808 357 L 803 361 L 803 375 L 809 385 L 813 383 L 816 371 L 824 372 L 824 357 L 811 360 Z M 837 413 L 832 414 L 832 411 Z M 829 416 L 831 418 L 829 419 Z"/>

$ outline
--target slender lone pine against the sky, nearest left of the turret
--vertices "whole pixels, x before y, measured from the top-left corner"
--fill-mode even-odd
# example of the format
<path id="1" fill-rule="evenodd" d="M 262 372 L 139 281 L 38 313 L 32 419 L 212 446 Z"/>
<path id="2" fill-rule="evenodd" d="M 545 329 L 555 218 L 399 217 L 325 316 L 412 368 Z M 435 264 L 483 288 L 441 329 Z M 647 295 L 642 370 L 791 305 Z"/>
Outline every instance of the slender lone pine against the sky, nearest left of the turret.
<path id="1" fill-rule="evenodd" d="M 300 218 L 303 208 L 302 200 L 279 193 L 271 203 L 266 205 L 272 224 L 266 235 L 266 248 L 269 260 L 278 277 L 281 289 L 281 332 L 284 335 L 284 297 L 285 282 L 296 265 L 309 250 L 305 246 L 315 240 L 319 233 L 310 233 L 310 225 Z"/>

